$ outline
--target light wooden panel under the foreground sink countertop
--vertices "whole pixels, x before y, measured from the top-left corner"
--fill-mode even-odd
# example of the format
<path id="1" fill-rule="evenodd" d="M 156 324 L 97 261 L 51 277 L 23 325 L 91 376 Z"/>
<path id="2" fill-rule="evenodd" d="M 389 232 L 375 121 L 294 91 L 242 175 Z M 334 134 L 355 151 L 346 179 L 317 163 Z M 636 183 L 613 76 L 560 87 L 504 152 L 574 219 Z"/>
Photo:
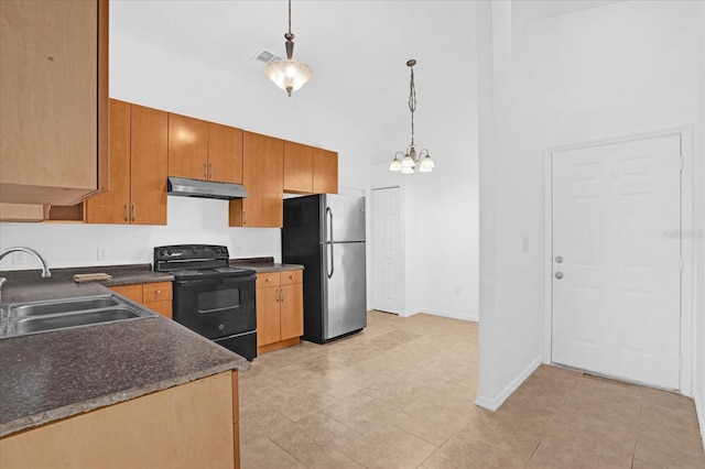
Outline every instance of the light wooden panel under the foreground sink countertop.
<path id="1" fill-rule="evenodd" d="M 238 372 L 227 371 L 0 439 L 0 467 L 240 467 Z"/>

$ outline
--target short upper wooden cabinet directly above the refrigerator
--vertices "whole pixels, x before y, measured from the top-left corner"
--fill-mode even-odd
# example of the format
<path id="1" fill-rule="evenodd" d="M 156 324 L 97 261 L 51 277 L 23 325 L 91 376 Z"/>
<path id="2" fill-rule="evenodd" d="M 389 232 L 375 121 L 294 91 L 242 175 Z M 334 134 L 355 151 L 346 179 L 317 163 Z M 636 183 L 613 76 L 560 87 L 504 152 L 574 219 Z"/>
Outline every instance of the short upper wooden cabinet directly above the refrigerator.
<path id="1" fill-rule="evenodd" d="M 284 192 L 337 194 L 338 154 L 284 141 Z"/>

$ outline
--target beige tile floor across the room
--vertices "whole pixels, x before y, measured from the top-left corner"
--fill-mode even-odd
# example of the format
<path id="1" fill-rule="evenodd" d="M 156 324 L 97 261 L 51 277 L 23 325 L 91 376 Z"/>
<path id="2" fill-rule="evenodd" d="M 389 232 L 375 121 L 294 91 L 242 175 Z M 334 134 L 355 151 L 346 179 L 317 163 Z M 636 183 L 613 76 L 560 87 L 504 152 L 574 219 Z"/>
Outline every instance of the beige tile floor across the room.
<path id="1" fill-rule="evenodd" d="M 693 401 L 542 366 L 474 405 L 477 324 L 371 312 L 240 375 L 242 469 L 705 468 Z"/>

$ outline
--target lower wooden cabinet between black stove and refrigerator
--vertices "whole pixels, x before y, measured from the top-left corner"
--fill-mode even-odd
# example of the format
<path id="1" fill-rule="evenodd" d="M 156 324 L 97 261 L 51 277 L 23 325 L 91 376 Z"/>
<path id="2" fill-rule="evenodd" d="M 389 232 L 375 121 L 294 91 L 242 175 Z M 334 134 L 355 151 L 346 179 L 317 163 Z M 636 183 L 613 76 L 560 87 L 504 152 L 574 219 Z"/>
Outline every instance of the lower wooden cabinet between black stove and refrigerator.
<path id="1" fill-rule="evenodd" d="M 258 355 L 294 346 L 303 334 L 303 271 L 257 274 Z"/>

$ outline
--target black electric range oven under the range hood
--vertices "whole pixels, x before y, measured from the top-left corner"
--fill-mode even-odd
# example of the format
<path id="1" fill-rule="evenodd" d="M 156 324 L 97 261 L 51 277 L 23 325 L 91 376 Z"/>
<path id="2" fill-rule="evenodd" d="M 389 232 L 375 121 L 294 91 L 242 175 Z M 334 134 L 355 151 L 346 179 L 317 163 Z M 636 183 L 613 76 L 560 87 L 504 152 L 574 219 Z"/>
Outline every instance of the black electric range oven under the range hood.
<path id="1" fill-rule="evenodd" d="M 252 361 L 257 357 L 256 274 L 230 268 L 228 260 L 225 246 L 154 248 L 154 271 L 174 275 L 174 320 Z"/>

